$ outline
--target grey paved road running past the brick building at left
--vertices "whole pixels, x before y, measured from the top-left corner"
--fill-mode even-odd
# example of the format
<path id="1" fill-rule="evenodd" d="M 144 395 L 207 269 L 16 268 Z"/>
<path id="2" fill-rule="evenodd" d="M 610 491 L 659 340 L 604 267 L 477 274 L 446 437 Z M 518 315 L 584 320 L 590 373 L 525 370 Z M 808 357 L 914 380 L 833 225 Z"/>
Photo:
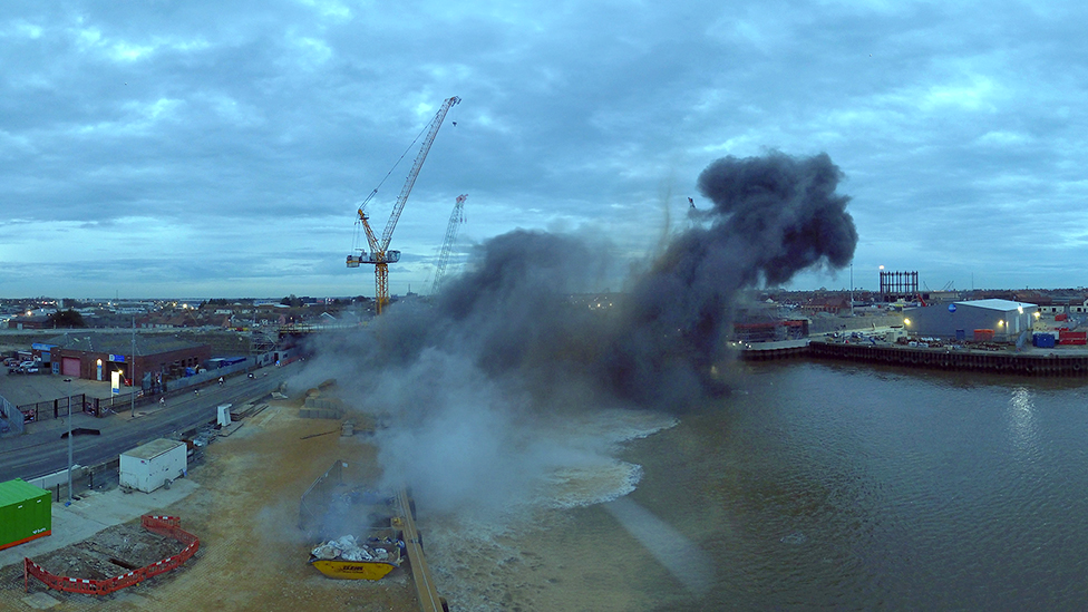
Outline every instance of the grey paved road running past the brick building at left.
<path id="1" fill-rule="evenodd" d="M 72 428 L 101 431 L 99 436 L 72 436 L 72 463 L 97 465 L 142 443 L 214 421 L 217 406 L 266 396 L 298 368 L 297 363 L 262 368 L 252 379 L 240 375 L 227 379 L 222 387 L 213 382 L 202 388 L 198 396 L 188 394 L 167 400 L 166 407 L 137 408 L 135 417 L 129 410 L 103 418 L 72 415 Z M 66 419 L 28 424 L 28 430 L 21 436 L 0 439 L 0 482 L 29 480 L 68 467 L 68 440 L 61 438 L 68 430 Z"/>

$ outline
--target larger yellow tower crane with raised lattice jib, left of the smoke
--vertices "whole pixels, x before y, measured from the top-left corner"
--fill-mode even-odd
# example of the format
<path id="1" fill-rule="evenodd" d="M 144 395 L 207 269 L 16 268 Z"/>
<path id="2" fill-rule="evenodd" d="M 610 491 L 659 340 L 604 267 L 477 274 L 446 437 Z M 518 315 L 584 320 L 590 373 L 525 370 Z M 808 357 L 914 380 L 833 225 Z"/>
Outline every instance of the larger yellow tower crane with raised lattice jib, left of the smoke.
<path id="1" fill-rule="evenodd" d="M 397 221 L 400 218 L 401 211 L 405 210 L 405 203 L 408 202 L 408 194 L 411 193 L 412 185 L 416 184 L 416 177 L 419 176 L 419 168 L 424 165 L 424 159 L 427 158 L 427 153 L 430 150 L 430 145 L 435 143 L 435 136 L 438 135 L 438 128 L 441 127 L 443 119 L 446 118 L 446 113 L 460 101 L 460 98 L 454 96 L 451 98 L 446 98 L 435 118 L 430 120 L 430 124 L 425 128 L 426 136 L 424 137 L 422 145 L 419 147 L 419 153 L 416 154 L 416 162 L 411 165 L 411 169 L 408 172 L 408 179 L 405 181 L 405 186 L 400 190 L 400 195 L 397 197 L 396 204 L 392 206 L 392 213 L 389 215 L 389 221 L 386 222 L 386 229 L 381 232 L 381 240 L 379 241 L 375 236 L 373 230 L 370 227 L 370 216 L 366 212 L 367 204 L 378 193 L 378 188 L 370 192 L 367 200 L 359 206 L 359 218 L 356 221 L 357 225 L 362 225 L 363 231 L 367 233 L 367 243 L 370 247 L 369 251 L 366 249 L 354 249 L 359 251 L 359 255 L 348 255 L 348 268 L 359 268 L 361 263 L 372 263 L 375 266 L 375 303 L 377 304 L 377 313 L 381 314 L 382 309 L 389 303 L 389 264 L 397 263 L 400 261 L 400 251 L 389 250 L 389 240 L 392 237 L 392 231 L 397 227 Z M 391 172 L 391 171 L 390 171 Z M 387 175 L 388 176 L 388 175 Z M 385 181 L 385 179 L 382 179 Z M 381 186 L 380 184 L 378 185 Z"/>

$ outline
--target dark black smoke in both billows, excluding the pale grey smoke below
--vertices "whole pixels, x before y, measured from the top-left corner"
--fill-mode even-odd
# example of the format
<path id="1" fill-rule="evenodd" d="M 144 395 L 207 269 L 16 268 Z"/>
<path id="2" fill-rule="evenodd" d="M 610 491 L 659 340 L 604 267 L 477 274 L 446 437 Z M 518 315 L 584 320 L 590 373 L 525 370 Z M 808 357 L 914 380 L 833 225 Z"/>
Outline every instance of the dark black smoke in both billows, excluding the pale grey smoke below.
<path id="1" fill-rule="evenodd" d="M 453 350 L 537 398 L 593 392 L 682 409 L 721 391 L 712 367 L 740 292 L 806 269 L 848 264 L 857 232 L 826 154 L 725 157 L 700 175 L 713 206 L 626 281 L 619 303 L 591 311 L 571 297 L 611 270 L 604 241 L 516 230 L 483 244 L 433 308 L 391 308 L 372 362 L 406 367 Z M 399 304 L 398 304 L 399 307 Z"/>

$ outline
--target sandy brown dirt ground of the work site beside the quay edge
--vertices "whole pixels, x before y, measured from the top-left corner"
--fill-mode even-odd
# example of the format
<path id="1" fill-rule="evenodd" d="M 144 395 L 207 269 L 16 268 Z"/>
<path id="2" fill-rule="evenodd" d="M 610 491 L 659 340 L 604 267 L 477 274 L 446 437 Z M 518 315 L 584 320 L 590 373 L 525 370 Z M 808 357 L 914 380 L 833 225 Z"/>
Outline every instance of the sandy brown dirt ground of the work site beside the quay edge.
<path id="1" fill-rule="evenodd" d="M 406 569 L 379 582 L 338 581 L 309 565 L 318 542 L 299 530 L 302 494 L 337 460 L 347 464 L 343 479 L 351 485 L 373 482 L 378 474 L 366 436 L 341 437 L 339 420 L 299 418 L 299 405 L 271 402 L 233 435 L 210 444 L 190 469 L 201 488 L 164 509 L 201 540 L 200 551 L 181 569 L 104 598 L 50 591 L 33 581 L 30 594 L 45 592 L 59 601 L 52 610 L 418 610 Z M 124 538 L 135 532 L 143 532 L 138 521 L 35 561 L 91 577 L 103 567 L 88 558 L 101 562 L 116 557 L 111 551 L 117 550 L 136 558 L 133 546 L 124 548 Z M 138 541 L 142 554 L 163 558 L 176 552 L 167 544 L 156 548 L 146 536 Z M 0 610 L 31 610 L 21 567 L 4 572 L 12 573 L 0 575 Z"/>

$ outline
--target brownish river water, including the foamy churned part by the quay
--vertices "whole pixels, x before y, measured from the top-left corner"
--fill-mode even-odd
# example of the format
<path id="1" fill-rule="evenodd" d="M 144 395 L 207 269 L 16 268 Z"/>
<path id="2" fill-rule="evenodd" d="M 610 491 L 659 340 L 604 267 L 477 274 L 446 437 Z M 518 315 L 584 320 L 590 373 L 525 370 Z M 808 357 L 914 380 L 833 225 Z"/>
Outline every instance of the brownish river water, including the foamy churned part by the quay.
<path id="1" fill-rule="evenodd" d="M 794 360 L 502 524 L 421 518 L 455 610 L 1088 608 L 1088 381 Z M 614 501 L 611 501 L 614 499 Z"/>

